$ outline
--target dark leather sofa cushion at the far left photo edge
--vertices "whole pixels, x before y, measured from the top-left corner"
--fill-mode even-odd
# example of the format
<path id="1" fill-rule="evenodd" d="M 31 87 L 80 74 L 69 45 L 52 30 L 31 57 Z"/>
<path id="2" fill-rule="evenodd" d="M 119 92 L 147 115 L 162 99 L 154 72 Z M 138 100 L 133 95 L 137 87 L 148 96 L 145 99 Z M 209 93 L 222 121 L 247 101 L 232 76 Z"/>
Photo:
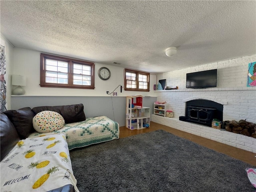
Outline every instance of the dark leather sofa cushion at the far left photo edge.
<path id="1" fill-rule="evenodd" d="M 20 140 L 18 133 L 10 121 L 10 119 L 6 116 L 6 114 L 1 113 L 0 115 L 0 146 L 1 146 L 1 156 L 2 159 L 12 150 L 12 148 L 16 145 L 16 143 Z"/>

